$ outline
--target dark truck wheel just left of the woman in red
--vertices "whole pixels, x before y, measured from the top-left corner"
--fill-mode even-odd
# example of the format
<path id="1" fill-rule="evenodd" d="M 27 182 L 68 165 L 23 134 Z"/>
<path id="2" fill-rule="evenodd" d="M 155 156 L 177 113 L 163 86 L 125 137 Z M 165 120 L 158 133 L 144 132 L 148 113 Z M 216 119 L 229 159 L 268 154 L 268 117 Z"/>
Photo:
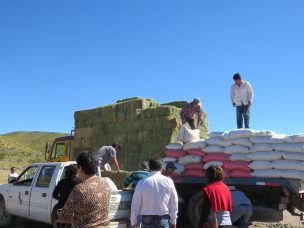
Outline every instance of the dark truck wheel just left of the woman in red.
<path id="1" fill-rule="evenodd" d="M 201 210 L 202 210 L 202 203 L 203 203 L 203 191 L 199 191 L 195 193 L 189 200 L 188 203 L 188 217 L 191 222 L 191 225 L 194 228 L 199 226 L 199 221 L 201 217 Z"/>

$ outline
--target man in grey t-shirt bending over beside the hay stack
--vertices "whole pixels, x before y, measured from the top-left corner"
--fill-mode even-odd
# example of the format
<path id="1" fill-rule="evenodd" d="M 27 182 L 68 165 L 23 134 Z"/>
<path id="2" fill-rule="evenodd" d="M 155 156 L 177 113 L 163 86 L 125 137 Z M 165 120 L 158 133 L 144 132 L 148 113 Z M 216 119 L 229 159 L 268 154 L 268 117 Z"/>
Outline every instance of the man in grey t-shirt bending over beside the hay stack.
<path id="1" fill-rule="evenodd" d="M 108 170 L 106 164 L 111 158 L 113 158 L 114 164 L 118 172 L 121 172 L 119 169 L 119 164 L 116 158 L 116 153 L 121 151 L 122 146 L 119 143 L 113 143 L 112 146 L 103 146 L 97 150 L 97 156 L 99 157 L 101 169 Z"/>

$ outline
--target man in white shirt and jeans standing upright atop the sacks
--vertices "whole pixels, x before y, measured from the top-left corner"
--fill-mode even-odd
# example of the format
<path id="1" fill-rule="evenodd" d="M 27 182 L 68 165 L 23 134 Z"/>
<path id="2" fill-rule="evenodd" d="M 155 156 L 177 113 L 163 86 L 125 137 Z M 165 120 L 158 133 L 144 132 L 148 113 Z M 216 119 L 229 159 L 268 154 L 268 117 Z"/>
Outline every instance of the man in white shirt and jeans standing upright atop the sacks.
<path id="1" fill-rule="evenodd" d="M 234 84 L 230 89 L 230 99 L 233 107 L 236 107 L 237 128 L 249 128 L 250 107 L 253 100 L 253 90 L 247 81 L 243 81 L 239 73 L 233 75 Z"/>

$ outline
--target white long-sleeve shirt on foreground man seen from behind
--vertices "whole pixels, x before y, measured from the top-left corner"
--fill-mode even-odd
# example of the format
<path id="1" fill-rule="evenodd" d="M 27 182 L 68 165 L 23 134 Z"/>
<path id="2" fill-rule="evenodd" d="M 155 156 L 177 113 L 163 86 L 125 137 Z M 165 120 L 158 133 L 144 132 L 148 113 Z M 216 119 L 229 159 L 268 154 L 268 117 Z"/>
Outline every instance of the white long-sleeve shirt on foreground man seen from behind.
<path id="1" fill-rule="evenodd" d="M 161 172 L 150 172 L 135 188 L 131 204 L 131 224 L 138 215 L 170 215 L 170 224 L 176 224 L 178 197 L 172 179 Z"/>

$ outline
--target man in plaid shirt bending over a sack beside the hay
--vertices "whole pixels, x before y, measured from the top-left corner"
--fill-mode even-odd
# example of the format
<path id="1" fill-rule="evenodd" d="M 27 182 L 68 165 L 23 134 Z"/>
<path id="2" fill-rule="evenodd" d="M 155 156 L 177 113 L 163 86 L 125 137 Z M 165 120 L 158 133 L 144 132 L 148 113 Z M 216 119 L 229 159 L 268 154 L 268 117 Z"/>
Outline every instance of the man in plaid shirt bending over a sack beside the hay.
<path id="1" fill-rule="evenodd" d="M 197 128 L 202 122 L 202 109 L 200 106 L 200 99 L 194 98 L 192 102 L 187 103 L 180 112 L 180 116 L 182 119 L 182 124 L 185 124 L 188 122 L 191 129 L 196 129 L 194 124 L 194 115 L 197 114 Z"/>

